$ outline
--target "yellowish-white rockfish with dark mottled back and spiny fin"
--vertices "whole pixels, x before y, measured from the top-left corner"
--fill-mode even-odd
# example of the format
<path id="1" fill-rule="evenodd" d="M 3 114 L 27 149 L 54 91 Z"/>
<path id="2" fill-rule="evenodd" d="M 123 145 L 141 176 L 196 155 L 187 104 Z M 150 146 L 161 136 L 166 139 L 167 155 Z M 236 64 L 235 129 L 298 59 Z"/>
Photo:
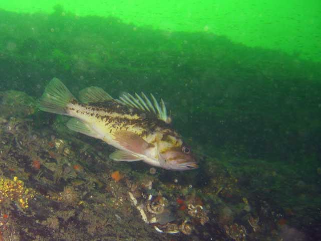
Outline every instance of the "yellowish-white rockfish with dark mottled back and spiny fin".
<path id="1" fill-rule="evenodd" d="M 97 86 L 79 92 L 78 101 L 64 83 L 53 78 L 38 101 L 40 110 L 68 115 L 67 127 L 100 139 L 117 150 L 114 161 L 143 161 L 167 170 L 198 168 L 195 155 L 171 126 L 163 99 L 153 94 L 123 93 L 118 99 Z"/>

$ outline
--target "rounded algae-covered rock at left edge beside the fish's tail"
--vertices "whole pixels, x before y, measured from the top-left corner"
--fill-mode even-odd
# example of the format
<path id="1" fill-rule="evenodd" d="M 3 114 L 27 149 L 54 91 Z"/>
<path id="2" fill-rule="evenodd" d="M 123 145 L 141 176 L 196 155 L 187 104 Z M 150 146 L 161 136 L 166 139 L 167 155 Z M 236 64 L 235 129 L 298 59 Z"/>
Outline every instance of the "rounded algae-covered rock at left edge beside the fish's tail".
<path id="1" fill-rule="evenodd" d="M 3 118 L 26 117 L 35 113 L 36 99 L 16 90 L 0 92 L 0 109 Z"/>

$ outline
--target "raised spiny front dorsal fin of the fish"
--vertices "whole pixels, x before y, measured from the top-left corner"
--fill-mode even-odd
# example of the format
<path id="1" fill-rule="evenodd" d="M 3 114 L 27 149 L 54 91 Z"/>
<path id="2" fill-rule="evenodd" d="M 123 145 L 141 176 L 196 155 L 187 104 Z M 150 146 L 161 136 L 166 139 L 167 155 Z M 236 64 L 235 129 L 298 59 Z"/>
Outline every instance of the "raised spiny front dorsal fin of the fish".
<path id="1" fill-rule="evenodd" d="M 119 96 L 119 99 L 117 101 L 134 108 L 153 112 L 159 119 L 161 119 L 165 123 L 171 123 L 172 119 L 167 115 L 164 100 L 161 99 L 159 105 L 154 95 L 150 94 L 150 96 L 153 102 L 143 92 L 141 93 L 141 96 L 137 93 L 135 93 L 135 96 L 131 95 L 130 93 L 123 93 L 121 96 Z"/>

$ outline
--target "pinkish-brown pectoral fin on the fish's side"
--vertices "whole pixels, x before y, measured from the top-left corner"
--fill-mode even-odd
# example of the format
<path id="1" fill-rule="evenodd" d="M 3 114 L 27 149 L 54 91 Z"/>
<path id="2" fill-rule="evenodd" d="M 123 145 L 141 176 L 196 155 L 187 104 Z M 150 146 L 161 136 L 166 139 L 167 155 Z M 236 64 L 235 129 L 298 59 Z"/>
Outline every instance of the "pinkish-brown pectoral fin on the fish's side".
<path id="1" fill-rule="evenodd" d="M 137 154 L 144 154 L 149 148 L 148 142 L 133 132 L 118 131 L 114 134 L 114 140 L 124 149 Z"/>

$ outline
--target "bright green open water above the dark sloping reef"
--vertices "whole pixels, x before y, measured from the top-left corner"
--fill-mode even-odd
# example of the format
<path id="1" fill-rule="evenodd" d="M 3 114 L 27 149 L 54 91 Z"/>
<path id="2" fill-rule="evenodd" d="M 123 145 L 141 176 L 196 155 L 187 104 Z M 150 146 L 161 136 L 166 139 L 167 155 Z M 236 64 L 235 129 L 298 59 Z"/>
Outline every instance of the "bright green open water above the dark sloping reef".
<path id="1" fill-rule="evenodd" d="M 208 32 L 235 43 L 320 62 L 319 1 L 6 1 L 18 13 L 52 13 L 61 4 L 77 16 L 113 16 L 124 23 L 168 32 Z"/>

